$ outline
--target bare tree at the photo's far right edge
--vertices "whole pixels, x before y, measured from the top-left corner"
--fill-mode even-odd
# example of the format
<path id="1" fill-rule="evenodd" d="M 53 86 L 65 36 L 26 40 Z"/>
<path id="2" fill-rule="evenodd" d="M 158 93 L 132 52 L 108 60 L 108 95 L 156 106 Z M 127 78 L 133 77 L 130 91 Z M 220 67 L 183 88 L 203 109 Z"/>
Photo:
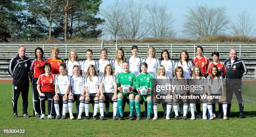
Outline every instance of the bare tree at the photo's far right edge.
<path id="1" fill-rule="evenodd" d="M 238 14 L 238 22 L 232 23 L 230 27 L 233 35 L 241 37 L 252 37 L 256 32 L 253 21 L 246 10 Z"/>

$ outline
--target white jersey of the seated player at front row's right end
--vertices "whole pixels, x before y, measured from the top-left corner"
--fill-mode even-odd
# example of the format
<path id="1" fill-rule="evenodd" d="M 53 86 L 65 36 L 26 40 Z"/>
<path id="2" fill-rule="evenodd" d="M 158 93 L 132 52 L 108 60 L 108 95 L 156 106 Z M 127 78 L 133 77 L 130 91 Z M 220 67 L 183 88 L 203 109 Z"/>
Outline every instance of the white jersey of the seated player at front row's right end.
<path id="1" fill-rule="evenodd" d="M 224 85 L 222 76 L 220 76 L 220 78 L 215 77 L 213 80 L 211 80 L 210 76 L 207 77 L 207 86 L 210 87 L 210 94 L 222 94 L 221 85 Z"/>

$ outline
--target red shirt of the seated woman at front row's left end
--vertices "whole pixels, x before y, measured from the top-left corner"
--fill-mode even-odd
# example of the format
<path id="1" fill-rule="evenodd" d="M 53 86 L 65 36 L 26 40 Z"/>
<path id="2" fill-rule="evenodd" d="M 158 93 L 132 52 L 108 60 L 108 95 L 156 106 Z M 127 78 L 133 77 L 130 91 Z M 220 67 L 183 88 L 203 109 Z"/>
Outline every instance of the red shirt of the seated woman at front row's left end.
<path id="1" fill-rule="evenodd" d="M 49 76 L 42 74 L 38 77 L 36 84 L 41 85 L 41 92 L 54 92 L 54 80 L 54 74 L 50 74 Z"/>

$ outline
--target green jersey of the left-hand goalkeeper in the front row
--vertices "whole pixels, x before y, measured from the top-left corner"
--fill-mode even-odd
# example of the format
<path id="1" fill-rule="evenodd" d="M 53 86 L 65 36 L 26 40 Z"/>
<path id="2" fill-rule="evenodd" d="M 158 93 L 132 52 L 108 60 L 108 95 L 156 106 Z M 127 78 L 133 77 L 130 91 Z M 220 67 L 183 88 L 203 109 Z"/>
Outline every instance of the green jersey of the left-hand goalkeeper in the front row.
<path id="1" fill-rule="evenodd" d="M 131 71 L 129 71 L 128 73 L 118 73 L 118 75 L 116 76 L 117 80 L 118 80 L 118 87 L 121 87 L 121 85 L 130 85 L 132 86 L 134 89 L 136 89 L 136 85 L 135 85 L 135 74 Z"/>

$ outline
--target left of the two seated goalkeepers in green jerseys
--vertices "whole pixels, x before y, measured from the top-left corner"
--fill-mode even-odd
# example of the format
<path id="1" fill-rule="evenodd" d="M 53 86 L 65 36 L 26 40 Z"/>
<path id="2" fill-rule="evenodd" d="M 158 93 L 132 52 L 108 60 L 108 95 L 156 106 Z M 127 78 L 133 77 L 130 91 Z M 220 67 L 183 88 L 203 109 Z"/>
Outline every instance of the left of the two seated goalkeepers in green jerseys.
<path id="1" fill-rule="evenodd" d="M 119 120 L 123 120 L 123 99 L 129 100 L 130 104 L 130 116 L 129 120 L 133 120 L 133 108 L 134 108 L 134 97 L 137 95 L 134 90 L 136 89 L 135 85 L 135 74 L 131 71 L 129 71 L 129 63 L 127 61 L 123 62 L 123 72 L 118 73 L 116 76 L 118 80 L 118 109 L 120 112 Z M 130 85 L 129 87 L 129 93 L 125 94 L 123 93 L 123 85 Z"/>

